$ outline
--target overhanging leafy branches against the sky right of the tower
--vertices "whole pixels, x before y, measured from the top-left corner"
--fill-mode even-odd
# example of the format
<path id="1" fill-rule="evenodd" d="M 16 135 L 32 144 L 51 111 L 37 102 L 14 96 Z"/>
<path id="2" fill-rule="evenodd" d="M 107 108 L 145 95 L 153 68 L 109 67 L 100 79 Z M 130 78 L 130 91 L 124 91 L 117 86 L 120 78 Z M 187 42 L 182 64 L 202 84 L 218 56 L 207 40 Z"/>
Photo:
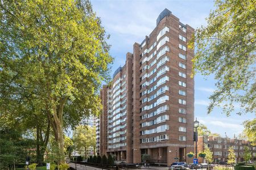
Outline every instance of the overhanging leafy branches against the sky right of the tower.
<path id="1" fill-rule="evenodd" d="M 214 107 L 230 115 L 255 112 L 255 1 L 216 0 L 207 26 L 196 29 L 189 48 L 196 48 L 193 75 L 214 74 L 217 87 L 209 97 L 208 113 Z"/>

